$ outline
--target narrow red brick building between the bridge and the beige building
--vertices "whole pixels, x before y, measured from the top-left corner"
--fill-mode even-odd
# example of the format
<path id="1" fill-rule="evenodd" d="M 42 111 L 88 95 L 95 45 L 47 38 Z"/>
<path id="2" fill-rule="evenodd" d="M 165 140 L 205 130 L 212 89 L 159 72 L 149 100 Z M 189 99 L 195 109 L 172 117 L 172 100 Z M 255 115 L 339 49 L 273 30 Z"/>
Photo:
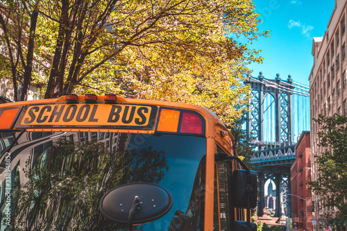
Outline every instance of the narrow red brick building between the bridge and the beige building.
<path id="1" fill-rule="evenodd" d="M 291 218 L 293 230 L 312 231 L 312 193 L 306 185 L 311 180 L 310 132 L 304 131 L 295 146 L 296 161 L 290 169 Z"/>

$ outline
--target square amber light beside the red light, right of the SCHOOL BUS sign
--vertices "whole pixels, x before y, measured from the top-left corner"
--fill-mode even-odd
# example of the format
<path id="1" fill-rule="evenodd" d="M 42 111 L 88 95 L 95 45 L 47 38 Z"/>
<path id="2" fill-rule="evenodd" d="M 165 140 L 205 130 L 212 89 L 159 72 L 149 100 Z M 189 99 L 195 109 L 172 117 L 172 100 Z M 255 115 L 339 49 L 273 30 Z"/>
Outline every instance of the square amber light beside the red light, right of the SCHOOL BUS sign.
<path id="1" fill-rule="evenodd" d="M 158 123 L 158 132 L 177 132 L 180 111 L 162 109 Z"/>

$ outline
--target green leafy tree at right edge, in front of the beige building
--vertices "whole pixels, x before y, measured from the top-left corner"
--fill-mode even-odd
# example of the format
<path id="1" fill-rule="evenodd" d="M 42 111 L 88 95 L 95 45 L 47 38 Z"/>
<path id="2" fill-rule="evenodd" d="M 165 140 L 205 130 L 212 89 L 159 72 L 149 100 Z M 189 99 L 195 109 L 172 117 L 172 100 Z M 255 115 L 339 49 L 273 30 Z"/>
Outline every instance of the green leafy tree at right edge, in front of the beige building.
<path id="1" fill-rule="evenodd" d="M 315 158 L 317 180 L 309 182 L 323 206 L 337 207 L 336 216 L 328 214 L 328 223 L 345 226 L 347 221 L 347 117 L 319 115 L 319 146 L 323 149 Z"/>

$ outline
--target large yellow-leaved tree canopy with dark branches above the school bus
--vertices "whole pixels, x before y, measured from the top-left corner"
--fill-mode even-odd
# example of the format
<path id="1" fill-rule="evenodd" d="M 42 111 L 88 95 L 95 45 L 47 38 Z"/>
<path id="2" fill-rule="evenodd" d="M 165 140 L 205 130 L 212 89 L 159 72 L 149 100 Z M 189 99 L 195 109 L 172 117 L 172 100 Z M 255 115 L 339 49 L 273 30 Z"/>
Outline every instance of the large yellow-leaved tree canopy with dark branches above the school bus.
<path id="1" fill-rule="evenodd" d="M 266 35 L 257 16 L 252 0 L 3 1 L 0 74 L 16 100 L 35 84 L 45 98 L 113 92 L 200 104 L 230 121 L 247 95 L 245 65 L 262 60 L 237 42 Z"/>

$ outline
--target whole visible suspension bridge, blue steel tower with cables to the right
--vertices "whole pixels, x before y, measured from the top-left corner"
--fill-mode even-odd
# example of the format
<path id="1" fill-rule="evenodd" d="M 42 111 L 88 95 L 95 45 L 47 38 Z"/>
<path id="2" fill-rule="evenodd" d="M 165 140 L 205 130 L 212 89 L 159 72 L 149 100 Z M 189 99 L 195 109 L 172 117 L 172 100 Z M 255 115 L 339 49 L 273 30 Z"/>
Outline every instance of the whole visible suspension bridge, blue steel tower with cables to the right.
<path id="1" fill-rule="evenodd" d="M 309 87 L 295 83 L 291 76 L 271 80 L 249 76 L 251 102 L 246 132 L 255 146 L 251 163 L 258 175 L 257 215 L 263 216 L 265 196 L 273 194 L 274 216 L 290 216 L 290 167 L 296 160 L 295 144 L 301 132 L 310 130 Z M 274 183 L 274 190 L 266 185 Z M 272 185 L 271 187 L 272 190 Z"/>

